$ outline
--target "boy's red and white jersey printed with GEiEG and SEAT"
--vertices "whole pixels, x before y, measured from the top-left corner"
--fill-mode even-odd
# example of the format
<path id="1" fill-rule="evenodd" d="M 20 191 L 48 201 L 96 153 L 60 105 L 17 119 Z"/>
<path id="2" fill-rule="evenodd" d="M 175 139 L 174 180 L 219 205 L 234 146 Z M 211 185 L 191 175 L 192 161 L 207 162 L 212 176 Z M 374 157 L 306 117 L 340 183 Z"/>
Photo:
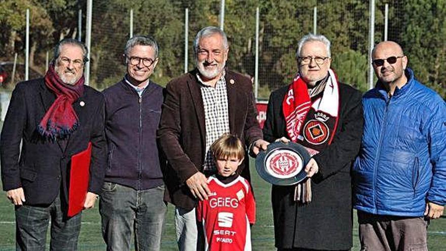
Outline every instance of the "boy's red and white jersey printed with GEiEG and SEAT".
<path id="1" fill-rule="evenodd" d="M 251 229 L 255 222 L 255 202 L 251 187 L 238 176 L 224 184 L 214 175 L 209 179 L 211 195 L 200 201 L 197 220 L 203 223 L 205 250 L 251 250 Z"/>

